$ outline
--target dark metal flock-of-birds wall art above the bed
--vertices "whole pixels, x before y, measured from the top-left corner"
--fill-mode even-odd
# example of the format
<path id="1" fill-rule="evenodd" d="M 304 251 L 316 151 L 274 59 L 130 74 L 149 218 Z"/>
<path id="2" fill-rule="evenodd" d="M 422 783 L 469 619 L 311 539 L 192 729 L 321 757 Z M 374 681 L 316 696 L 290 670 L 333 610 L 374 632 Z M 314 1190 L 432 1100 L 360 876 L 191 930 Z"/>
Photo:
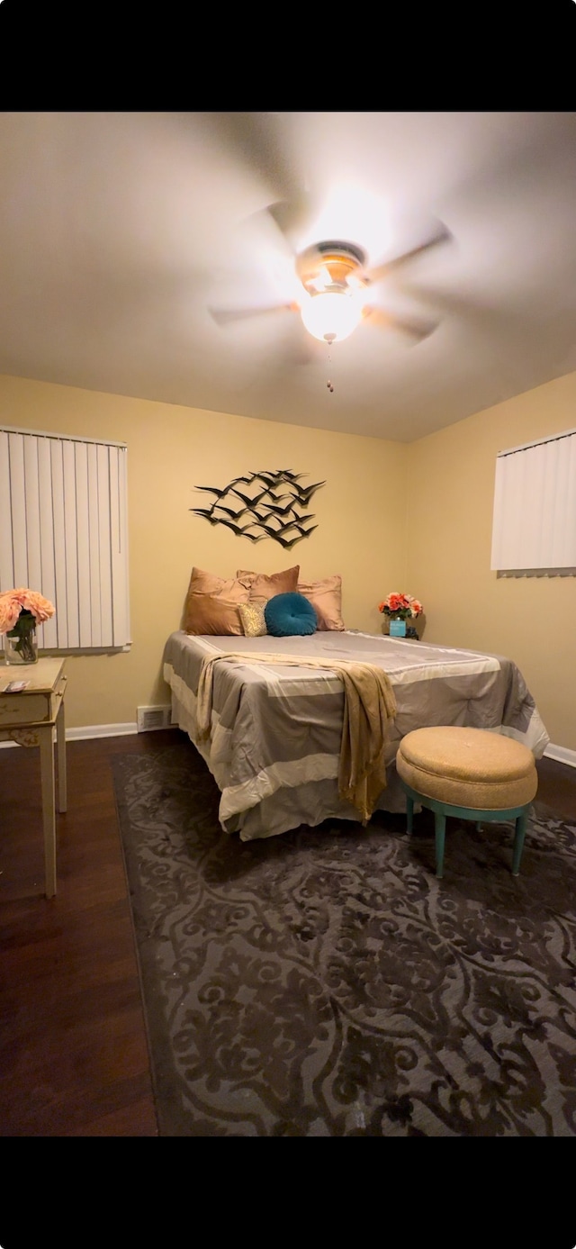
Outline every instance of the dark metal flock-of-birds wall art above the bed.
<path id="1" fill-rule="evenodd" d="M 289 468 L 265 470 L 235 477 L 222 490 L 196 486 L 196 490 L 215 495 L 215 500 L 210 507 L 191 507 L 190 511 L 210 525 L 225 525 L 237 537 L 250 538 L 250 542 L 274 538 L 290 551 L 317 528 L 309 523 L 315 513 L 306 510 L 316 491 L 326 485 L 316 481 L 312 486 L 301 486 L 304 476 Z M 231 506 L 236 500 L 237 506 Z"/>

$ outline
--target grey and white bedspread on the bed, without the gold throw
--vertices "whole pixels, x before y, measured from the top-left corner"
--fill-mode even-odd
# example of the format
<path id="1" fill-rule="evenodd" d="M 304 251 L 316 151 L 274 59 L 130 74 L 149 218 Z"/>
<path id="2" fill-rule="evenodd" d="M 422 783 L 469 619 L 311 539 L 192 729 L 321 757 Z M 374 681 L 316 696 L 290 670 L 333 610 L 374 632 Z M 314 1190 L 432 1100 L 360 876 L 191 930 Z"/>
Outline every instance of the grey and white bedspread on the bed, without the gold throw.
<path id="1" fill-rule="evenodd" d="M 271 649 L 277 662 L 260 662 L 259 656 Z M 224 658 L 231 651 L 239 658 Z M 205 661 L 215 656 L 210 727 L 202 736 L 199 683 Z M 357 809 L 340 797 L 337 783 L 342 679 L 329 668 L 306 667 L 306 658 L 370 664 L 387 673 L 396 716 L 376 809 L 405 811 L 395 757 L 400 739 L 411 729 L 431 724 L 486 728 L 525 743 L 536 759 L 549 744 L 521 672 L 504 656 L 354 629 L 274 638 L 190 636 L 177 629 L 164 649 L 172 723 L 189 734 L 215 778 L 222 829 L 241 841 L 274 837 L 300 824 L 316 827 L 330 818 L 359 819 Z"/>

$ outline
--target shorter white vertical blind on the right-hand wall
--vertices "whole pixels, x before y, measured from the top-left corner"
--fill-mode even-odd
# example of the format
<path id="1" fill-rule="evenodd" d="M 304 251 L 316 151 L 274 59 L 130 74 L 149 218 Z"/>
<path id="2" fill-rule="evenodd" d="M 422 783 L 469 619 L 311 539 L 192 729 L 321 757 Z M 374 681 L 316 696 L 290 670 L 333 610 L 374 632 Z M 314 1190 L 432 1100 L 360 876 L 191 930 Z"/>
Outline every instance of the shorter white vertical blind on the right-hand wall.
<path id="1" fill-rule="evenodd" d="M 499 453 L 491 568 L 576 568 L 576 430 Z"/>

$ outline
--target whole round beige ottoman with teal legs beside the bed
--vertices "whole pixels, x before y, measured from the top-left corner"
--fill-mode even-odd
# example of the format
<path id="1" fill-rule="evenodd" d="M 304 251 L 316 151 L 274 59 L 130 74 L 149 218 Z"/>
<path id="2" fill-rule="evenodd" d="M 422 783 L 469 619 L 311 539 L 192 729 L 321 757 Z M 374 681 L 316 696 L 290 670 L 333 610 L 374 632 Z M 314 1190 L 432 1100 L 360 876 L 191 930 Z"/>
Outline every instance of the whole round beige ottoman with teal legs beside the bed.
<path id="1" fill-rule="evenodd" d="M 412 832 L 415 802 L 434 811 L 437 877 L 444 874 L 447 816 L 474 819 L 479 827 L 515 819 L 512 876 L 519 874 L 527 814 L 539 787 L 527 746 L 482 728 L 416 728 L 400 742 L 396 771 L 406 793 L 407 832 Z"/>

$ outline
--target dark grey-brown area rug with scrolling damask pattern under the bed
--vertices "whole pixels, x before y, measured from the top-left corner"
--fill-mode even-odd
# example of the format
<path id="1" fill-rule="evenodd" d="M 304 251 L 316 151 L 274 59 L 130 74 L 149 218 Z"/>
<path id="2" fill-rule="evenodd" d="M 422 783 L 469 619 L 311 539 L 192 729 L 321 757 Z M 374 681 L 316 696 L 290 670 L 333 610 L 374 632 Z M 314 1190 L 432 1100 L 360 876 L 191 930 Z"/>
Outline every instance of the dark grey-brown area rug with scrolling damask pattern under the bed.
<path id="1" fill-rule="evenodd" d="M 576 1135 L 576 828 L 242 843 L 187 738 L 112 759 L 161 1137 Z"/>

